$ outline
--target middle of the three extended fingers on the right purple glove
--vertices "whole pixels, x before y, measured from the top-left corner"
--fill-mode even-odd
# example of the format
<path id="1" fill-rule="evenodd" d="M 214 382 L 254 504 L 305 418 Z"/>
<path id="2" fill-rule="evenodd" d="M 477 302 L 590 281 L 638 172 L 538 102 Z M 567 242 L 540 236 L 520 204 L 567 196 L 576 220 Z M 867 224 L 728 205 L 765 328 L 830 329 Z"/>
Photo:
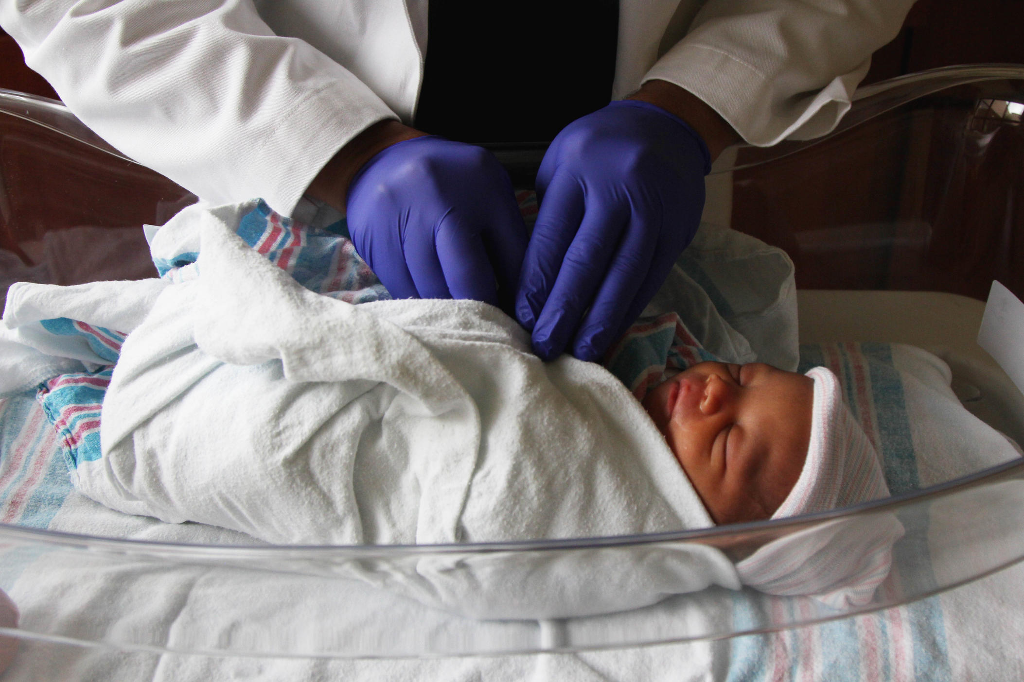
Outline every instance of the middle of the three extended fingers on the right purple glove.
<path id="1" fill-rule="evenodd" d="M 534 327 L 534 351 L 543 359 L 558 357 L 575 336 L 584 313 L 605 278 L 608 263 L 618 248 L 628 224 L 621 211 L 600 203 L 588 206 Z"/>

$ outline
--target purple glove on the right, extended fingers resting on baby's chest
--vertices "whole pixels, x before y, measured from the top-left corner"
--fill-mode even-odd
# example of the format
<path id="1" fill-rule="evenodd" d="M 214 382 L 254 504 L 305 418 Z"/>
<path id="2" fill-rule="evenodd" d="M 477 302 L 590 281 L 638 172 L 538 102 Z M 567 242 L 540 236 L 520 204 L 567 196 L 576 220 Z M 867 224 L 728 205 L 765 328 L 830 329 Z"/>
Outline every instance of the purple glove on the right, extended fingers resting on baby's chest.
<path id="1" fill-rule="evenodd" d="M 693 238 L 710 170 L 700 136 L 647 102 L 611 102 L 555 137 L 515 300 L 539 356 L 597 360 L 623 334 Z"/>

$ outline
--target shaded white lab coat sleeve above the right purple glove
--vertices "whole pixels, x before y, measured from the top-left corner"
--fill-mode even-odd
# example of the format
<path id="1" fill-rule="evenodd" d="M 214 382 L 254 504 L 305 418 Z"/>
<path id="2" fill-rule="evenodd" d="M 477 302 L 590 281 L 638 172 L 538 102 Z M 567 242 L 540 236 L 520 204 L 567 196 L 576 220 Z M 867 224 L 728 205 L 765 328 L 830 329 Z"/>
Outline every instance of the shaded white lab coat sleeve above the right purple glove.
<path id="1" fill-rule="evenodd" d="M 823 135 L 913 0 L 711 0 L 643 81 L 700 97 L 749 143 Z"/>

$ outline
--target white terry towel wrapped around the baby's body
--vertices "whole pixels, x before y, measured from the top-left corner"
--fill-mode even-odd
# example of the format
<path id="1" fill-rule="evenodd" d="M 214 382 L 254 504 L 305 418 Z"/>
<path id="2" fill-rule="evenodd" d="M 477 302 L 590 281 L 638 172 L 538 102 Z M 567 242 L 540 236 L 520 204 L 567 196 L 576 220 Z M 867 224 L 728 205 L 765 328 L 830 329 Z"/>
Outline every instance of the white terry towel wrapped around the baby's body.
<path id="1" fill-rule="evenodd" d="M 199 276 L 166 287 L 122 348 L 103 404 L 102 457 L 73 473 L 89 497 L 281 544 L 712 526 L 643 408 L 602 367 L 570 357 L 541 362 L 526 332 L 485 304 L 356 307 L 318 295 L 246 245 L 229 209 L 191 215 L 202 223 Z M 654 558 L 584 554 L 478 566 L 427 557 L 408 575 L 369 579 L 505 618 L 738 587 L 728 560 L 702 546 Z M 637 581 L 637 562 L 658 570 Z M 608 578 L 611 564 L 622 566 L 617 577 Z M 453 577 L 453 565 L 464 574 Z M 564 600 L 531 589 L 545 575 L 562 581 Z M 496 589 L 467 590 L 467 580 Z M 605 589 L 611 584 L 629 589 Z M 519 601 L 531 594 L 532 603 Z"/>

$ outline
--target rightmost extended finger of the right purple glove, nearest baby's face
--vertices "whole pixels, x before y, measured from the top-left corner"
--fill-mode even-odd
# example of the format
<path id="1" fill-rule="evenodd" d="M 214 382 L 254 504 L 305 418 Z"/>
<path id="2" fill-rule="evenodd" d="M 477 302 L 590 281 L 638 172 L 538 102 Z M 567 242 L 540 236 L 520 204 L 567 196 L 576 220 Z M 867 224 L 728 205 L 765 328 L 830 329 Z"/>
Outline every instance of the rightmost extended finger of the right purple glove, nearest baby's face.
<path id="1" fill-rule="evenodd" d="M 622 244 L 572 340 L 572 355 L 581 360 L 600 360 L 622 331 L 636 320 L 668 275 L 668 268 L 678 254 L 666 259 L 658 253 L 657 234 L 662 226 L 651 225 L 650 221 L 659 218 L 636 214 L 631 217 Z M 662 273 L 665 261 L 668 267 Z"/>

